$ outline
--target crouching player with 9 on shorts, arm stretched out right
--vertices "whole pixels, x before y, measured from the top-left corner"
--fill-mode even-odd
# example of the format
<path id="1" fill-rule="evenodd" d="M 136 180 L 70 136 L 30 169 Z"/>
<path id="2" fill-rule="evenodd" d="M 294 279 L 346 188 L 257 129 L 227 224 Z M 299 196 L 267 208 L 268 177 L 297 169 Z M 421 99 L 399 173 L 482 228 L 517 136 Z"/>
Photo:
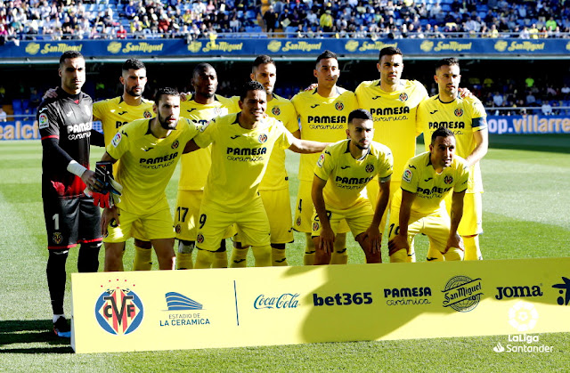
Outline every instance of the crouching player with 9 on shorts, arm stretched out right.
<path id="1" fill-rule="evenodd" d="M 256 266 L 271 265 L 270 227 L 257 187 L 272 150 L 317 152 L 327 145 L 299 140 L 280 121 L 267 116 L 267 93 L 257 82 L 244 86 L 239 104 L 239 113 L 213 119 L 190 142 L 190 150 L 212 144 L 212 167 L 199 212 L 196 268 L 211 266 L 224 231 L 233 223 L 251 245 Z"/>

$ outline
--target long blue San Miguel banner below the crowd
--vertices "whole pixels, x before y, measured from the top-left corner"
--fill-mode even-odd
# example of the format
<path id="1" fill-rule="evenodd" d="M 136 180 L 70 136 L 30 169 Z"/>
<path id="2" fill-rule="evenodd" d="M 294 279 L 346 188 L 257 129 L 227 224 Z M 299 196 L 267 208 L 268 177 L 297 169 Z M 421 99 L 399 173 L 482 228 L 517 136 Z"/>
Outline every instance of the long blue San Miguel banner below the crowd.
<path id="1" fill-rule="evenodd" d="M 559 56 L 570 52 L 568 39 L 353 39 L 353 38 L 222 38 L 197 39 L 122 39 L 122 40 L 45 40 L 20 41 L 0 46 L 2 58 L 59 58 L 61 53 L 77 50 L 90 57 L 208 57 L 256 56 L 258 54 L 315 56 L 329 49 L 341 56 L 377 57 L 379 50 L 396 46 L 411 57 L 462 55 Z"/>

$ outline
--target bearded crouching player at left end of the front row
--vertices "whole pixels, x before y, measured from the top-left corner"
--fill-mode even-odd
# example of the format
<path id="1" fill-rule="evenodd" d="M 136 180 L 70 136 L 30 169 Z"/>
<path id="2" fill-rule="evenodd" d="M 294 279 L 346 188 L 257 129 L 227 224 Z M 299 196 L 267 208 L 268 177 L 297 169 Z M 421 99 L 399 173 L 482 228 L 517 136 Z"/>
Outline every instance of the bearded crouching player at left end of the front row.
<path id="1" fill-rule="evenodd" d="M 151 239 L 159 268 L 174 269 L 175 232 L 165 190 L 184 146 L 199 128 L 180 118 L 180 95 L 175 89 L 159 89 L 153 109 L 157 117 L 123 126 L 102 157 L 102 161 L 120 159 L 117 181 L 123 186 L 121 201 L 102 214 L 107 272 L 122 270 L 125 241 L 134 222 Z"/>

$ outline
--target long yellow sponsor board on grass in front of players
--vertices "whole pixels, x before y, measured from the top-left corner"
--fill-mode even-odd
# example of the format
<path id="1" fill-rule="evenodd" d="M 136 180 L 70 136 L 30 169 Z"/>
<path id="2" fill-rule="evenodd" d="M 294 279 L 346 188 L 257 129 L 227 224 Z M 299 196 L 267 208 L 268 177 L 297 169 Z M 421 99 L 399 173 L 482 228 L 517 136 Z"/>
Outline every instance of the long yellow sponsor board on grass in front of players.
<path id="1" fill-rule="evenodd" d="M 71 280 L 76 353 L 492 335 L 546 352 L 536 333 L 570 331 L 570 258 Z"/>

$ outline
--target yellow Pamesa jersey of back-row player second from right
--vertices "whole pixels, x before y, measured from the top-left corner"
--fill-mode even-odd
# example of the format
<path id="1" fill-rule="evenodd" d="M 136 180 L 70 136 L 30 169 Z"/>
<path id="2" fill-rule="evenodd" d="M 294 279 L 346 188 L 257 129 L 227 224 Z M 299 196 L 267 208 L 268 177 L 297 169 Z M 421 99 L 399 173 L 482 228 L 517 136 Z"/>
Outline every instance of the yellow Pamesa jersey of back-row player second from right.
<path id="1" fill-rule="evenodd" d="M 399 178 L 405 163 L 416 154 L 416 124 L 419 102 L 428 98 L 428 91 L 417 80 L 400 80 L 400 89 L 384 92 L 380 80 L 362 82 L 356 87 L 358 107 L 367 109 L 374 118 L 374 141 L 386 145 L 394 154 L 394 174 Z"/>

